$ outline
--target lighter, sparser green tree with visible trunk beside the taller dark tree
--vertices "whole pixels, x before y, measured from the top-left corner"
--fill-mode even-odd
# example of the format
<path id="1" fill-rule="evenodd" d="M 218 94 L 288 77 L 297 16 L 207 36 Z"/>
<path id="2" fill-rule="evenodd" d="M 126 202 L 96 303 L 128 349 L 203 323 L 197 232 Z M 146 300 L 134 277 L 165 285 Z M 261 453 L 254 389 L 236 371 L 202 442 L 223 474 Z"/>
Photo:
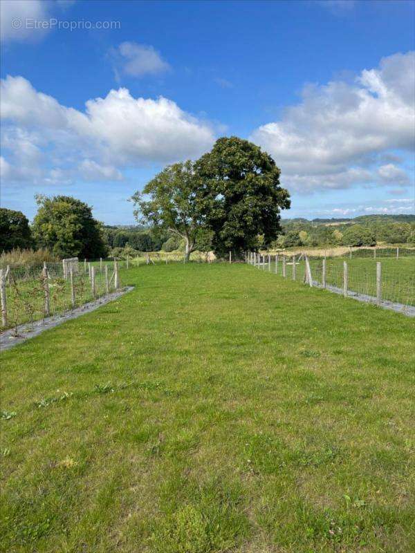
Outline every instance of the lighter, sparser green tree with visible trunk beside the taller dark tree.
<path id="1" fill-rule="evenodd" d="M 131 199 L 140 223 L 151 225 L 156 235 L 168 231 L 185 241 L 187 259 L 215 205 L 214 196 L 190 160 L 169 165 Z"/>

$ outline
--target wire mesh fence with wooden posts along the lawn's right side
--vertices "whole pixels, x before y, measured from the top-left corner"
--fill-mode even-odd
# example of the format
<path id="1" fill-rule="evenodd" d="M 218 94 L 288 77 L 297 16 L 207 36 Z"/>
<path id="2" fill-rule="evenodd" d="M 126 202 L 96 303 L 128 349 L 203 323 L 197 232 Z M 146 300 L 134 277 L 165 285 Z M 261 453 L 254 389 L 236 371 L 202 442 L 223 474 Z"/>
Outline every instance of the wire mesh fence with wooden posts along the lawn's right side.
<path id="1" fill-rule="evenodd" d="M 280 277 L 412 312 L 415 306 L 415 259 L 391 257 L 309 257 L 304 254 L 250 252 L 248 263 Z"/>

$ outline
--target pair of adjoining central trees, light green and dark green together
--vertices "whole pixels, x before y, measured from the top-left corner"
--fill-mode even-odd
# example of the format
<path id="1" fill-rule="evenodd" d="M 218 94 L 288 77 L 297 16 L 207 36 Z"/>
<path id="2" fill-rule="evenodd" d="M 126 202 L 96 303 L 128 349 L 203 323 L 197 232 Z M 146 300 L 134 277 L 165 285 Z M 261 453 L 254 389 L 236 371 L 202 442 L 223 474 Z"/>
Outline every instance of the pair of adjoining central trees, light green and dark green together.
<path id="1" fill-rule="evenodd" d="M 280 232 L 289 194 L 268 153 L 248 140 L 219 138 L 196 162 L 169 165 L 132 200 L 140 223 L 185 241 L 185 254 L 212 247 L 216 254 L 264 245 Z"/>

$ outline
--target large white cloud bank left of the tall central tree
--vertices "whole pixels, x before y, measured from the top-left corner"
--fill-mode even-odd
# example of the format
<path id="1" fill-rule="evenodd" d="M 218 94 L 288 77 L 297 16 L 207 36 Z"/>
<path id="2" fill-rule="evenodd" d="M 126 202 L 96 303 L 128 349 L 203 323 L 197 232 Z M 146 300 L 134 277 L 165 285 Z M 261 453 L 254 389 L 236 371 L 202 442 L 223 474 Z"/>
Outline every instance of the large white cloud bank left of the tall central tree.
<path id="1" fill-rule="evenodd" d="M 211 126 L 172 100 L 134 98 L 127 88 L 78 111 L 9 76 L 1 81 L 1 118 L 10 181 L 120 180 L 124 168 L 195 158 L 214 142 Z"/>

